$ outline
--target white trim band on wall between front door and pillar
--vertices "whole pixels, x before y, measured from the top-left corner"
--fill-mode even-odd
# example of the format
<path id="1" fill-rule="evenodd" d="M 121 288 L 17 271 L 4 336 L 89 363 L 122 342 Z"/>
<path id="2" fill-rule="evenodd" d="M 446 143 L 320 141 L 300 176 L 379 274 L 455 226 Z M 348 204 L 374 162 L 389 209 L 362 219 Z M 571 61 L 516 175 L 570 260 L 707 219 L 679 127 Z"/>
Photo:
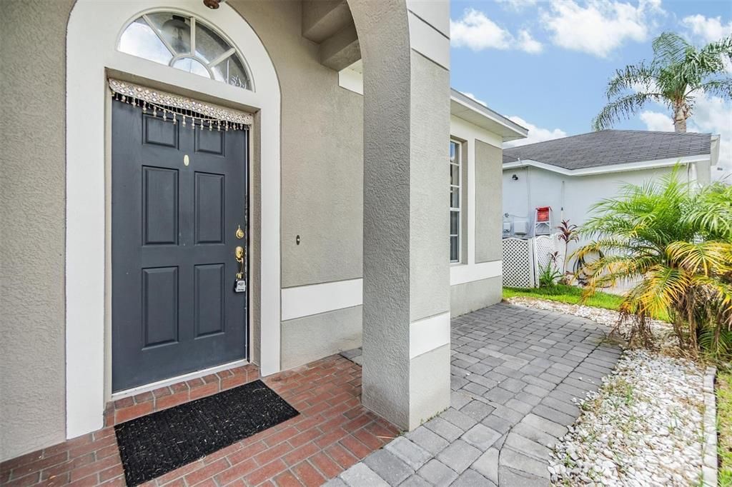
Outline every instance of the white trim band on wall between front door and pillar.
<path id="1" fill-rule="evenodd" d="M 363 279 L 324 282 L 282 290 L 282 320 L 363 304 Z"/>

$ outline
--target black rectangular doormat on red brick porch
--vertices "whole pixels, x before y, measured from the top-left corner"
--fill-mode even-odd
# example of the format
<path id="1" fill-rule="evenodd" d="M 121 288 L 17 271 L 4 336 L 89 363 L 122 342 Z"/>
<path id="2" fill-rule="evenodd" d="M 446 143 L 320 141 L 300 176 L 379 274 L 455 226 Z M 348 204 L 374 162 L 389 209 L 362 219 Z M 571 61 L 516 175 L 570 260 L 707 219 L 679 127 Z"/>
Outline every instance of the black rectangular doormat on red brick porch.
<path id="1" fill-rule="evenodd" d="M 114 427 L 128 486 L 183 467 L 299 412 L 255 380 Z"/>

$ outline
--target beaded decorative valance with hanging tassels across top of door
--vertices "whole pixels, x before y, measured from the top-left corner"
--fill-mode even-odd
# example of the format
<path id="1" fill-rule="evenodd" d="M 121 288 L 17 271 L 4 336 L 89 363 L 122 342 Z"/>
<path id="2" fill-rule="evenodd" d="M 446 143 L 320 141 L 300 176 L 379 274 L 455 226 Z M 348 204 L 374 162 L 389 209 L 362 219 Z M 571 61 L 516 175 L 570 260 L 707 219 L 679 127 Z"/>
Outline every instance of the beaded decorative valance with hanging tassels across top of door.
<path id="1" fill-rule="evenodd" d="M 184 127 L 190 124 L 191 128 L 198 125 L 201 130 L 203 127 L 209 130 L 241 130 L 251 125 L 254 119 L 251 113 L 199 102 L 113 78 L 109 78 L 109 89 L 114 99 L 139 106 L 143 112 L 152 110 L 154 116 L 160 112 L 164 119 L 171 118 L 173 124 L 180 121 Z"/>

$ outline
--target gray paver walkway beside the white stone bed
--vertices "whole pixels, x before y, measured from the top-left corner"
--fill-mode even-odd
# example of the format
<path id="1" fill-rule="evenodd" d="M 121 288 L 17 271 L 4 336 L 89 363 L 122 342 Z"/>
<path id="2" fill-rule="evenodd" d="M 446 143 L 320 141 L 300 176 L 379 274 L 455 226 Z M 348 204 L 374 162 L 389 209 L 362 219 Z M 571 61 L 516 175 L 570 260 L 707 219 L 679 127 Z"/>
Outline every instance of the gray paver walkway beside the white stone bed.
<path id="1" fill-rule="evenodd" d="M 451 407 L 326 485 L 548 486 L 551 448 L 580 414 L 572 399 L 619 358 L 605 331 L 506 303 L 454 318 Z"/>

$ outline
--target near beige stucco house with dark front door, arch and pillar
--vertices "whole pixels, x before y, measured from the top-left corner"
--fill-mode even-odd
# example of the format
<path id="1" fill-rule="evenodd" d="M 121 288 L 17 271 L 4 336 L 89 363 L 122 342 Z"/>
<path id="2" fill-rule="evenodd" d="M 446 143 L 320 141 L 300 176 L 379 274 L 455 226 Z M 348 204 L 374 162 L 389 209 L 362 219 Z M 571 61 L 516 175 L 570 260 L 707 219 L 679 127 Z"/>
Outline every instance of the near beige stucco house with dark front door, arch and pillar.
<path id="1" fill-rule="evenodd" d="M 403 429 L 449 406 L 449 319 L 501 298 L 526 129 L 450 91 L 447 1 L 0 14 L 0 460 L 115 399 L 361 344 L 365 406 Z"/>

